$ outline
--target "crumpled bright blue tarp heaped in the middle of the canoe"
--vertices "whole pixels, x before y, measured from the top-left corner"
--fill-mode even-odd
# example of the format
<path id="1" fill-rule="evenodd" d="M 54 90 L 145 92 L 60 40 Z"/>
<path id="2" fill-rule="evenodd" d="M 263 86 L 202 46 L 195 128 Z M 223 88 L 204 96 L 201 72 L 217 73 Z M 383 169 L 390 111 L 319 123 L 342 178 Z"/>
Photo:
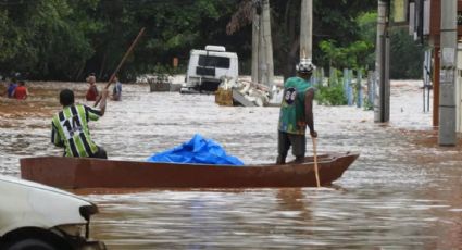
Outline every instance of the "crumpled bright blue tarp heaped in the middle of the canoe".
<path id="1" fill-rule="evenodd" d="M 202 163 L 218 165 L 244 165 L 238 158 L 226 154 L 226 151 L 212 139 L 196 134 L 188 142 L 173 149 L 154 153 L 148 162 Z"/>

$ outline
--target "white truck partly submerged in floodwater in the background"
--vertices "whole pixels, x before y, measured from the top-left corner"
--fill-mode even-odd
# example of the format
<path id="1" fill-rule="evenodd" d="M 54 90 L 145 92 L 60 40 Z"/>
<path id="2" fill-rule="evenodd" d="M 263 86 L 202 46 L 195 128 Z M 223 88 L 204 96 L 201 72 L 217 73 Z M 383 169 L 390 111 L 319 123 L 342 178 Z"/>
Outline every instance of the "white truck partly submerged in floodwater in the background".
<path id="1" fill-rule="evenodd" d="M 185 83 L 180 92 L 212 92 L 223 77 L 237 82 L 238 59 L 223 46 L 205 46 L 205 50 L 191 50 Z"/>

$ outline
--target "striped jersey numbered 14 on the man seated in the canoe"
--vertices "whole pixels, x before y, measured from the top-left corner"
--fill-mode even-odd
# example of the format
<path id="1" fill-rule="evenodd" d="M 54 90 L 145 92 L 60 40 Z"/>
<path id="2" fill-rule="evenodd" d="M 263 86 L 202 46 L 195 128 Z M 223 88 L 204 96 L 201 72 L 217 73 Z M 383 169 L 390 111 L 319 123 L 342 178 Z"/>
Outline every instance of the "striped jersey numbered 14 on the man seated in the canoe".
<path id="1" fill-rule="evenodd" d="M 98 151 L 91 140 L 88 122 L 97 121 L 101 112 L 88 105 L 72 104 L 64 107 L 51 122 L 51 142 L 64 147 L 65 157 L 86 158 Z"/>

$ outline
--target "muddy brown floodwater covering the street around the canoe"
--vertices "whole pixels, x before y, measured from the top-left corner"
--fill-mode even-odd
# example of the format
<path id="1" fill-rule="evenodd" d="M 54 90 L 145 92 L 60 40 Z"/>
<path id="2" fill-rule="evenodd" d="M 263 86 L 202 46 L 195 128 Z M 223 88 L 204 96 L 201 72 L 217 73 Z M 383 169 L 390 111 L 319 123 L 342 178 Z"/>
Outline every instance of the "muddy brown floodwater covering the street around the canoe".
<path id="1" fill-rule="evenodd" d="M 92 236 L 109 249 L 460 249 L 462 150 L 437 146 L 420 85 L 392 83 L 389 124 L 315 105 L 319 151 L 361 153 L 333 187 L 80 190 L 100 208 Z M 35 84 L 26 102 L 0 99 L 1 174 L 20 176 L 20 158 L 62 153 L 49 136 L 63 87 L 82 102 L 83 84 Z M 90 130 L 111 159 L 142 161 L 199 133 L 251 164 L 275 161 L 277 118 L 278 108 L 124 85 L 123 101 L 110 101 Z"/>

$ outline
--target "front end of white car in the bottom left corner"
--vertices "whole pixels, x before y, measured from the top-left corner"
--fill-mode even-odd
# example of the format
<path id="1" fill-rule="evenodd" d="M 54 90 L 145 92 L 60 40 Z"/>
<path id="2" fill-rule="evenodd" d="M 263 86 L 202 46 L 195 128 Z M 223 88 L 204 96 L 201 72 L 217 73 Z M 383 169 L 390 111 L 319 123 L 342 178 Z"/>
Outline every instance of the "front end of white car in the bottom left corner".
<path id="1" fill-rule="evenodd" d="M 98 250 L 89 239 L 97 205 L 70 192 L 0 175 L 0 250 Z"/>

